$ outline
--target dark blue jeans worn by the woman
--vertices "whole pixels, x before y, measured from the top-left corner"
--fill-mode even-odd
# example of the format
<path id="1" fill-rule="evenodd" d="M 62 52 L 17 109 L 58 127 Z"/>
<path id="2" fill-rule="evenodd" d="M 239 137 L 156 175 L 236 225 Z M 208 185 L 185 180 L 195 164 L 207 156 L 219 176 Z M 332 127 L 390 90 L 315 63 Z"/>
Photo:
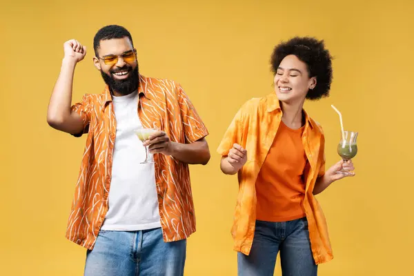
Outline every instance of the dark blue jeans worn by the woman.
<path id="1" fill-rule="evenodd" d="M 306 217 L 284 222 L 256 221 L 250 254 L 237 255 L 238 275 L 273 275 L 279 250 L 283 276 L 317 275 Z"/>

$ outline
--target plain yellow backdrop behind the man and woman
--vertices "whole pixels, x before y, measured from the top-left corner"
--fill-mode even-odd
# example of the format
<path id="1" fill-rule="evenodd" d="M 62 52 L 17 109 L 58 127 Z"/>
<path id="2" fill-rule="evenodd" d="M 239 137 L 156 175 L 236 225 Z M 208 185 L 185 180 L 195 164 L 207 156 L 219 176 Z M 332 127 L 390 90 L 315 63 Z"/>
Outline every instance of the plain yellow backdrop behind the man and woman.
<path id="1" fill-rule="evenodd" d="M 210 131 L 210 163 L 190 168 L 186 275 L 236 275 L 237 178 L 215 150 L 239 106 L 273 91 L 270 54 L 294 35 L 325 39 L 335 57 L 331 97 L 305 106 L 324 126 L 327 165 L 339 159 L 331 103 L 359 131 L 357 177 L 317 197 L 335 255 L 319 275 L 411 275 L 413 11 L 408 0 L 2 1 L 0 275 L 83 273 L 86 252 L 64 234 L 86 137 L 50 128 L 46 110 L 68 39 L 88 47 L 74 101 L 101 92 L 92 39 L 111 23 L 130 30 L 141 73 L 179 81 Z"/>

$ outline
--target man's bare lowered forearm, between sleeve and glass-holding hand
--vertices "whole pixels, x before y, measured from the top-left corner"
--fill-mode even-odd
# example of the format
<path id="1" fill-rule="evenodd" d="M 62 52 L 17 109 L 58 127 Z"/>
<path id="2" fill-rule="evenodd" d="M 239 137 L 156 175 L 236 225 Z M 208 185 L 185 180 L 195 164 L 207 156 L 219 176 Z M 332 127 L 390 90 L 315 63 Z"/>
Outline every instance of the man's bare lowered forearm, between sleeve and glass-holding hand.
<path id="1" fill-rule="evenodd" d="M 187 164 L 206 165 L 210 160 L 210 150 L 205 139 L 190 144 L 171 142 L 171 156 Z"/>

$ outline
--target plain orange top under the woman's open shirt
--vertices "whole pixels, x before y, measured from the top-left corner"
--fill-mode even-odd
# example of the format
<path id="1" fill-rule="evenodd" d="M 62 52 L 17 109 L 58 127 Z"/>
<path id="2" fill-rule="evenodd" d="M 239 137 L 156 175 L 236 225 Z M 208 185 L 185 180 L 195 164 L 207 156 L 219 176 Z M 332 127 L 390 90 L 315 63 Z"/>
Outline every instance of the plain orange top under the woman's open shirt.
<path id="1" fill-rule="evenodd" d="M 276 137 L 268 151 L 256 180 L 256 219 L 290 221 L 305 217 L 303 173 L 306 154 L 302 132 L 280 122 Z"/>

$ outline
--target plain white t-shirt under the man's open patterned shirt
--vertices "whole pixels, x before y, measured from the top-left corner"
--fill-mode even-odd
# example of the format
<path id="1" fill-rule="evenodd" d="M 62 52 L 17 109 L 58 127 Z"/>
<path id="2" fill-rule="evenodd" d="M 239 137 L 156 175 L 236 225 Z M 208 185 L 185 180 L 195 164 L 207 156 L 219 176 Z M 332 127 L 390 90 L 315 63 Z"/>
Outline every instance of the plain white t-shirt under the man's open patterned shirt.
<path id="1" fill-rule="evenodd" d="M 102 230 L 161 227 L 154 164 L 140 164 L 145 159 L 145 148 L 134 132 L 141 126 L 138 97 L 138 92 L 112 97 L 117 134 L 112 155 L 109 210 Z"/>

